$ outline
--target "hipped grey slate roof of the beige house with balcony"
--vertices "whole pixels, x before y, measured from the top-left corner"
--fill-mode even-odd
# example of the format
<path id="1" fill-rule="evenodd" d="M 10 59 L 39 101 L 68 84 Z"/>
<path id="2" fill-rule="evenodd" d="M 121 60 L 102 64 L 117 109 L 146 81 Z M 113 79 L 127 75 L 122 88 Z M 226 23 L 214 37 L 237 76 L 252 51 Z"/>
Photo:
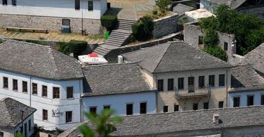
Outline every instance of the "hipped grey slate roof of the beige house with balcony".
<path id="1" fill-rule="evenodd" d="M 122 55 L 125 60 L 137 62 L 151 73 L 231 67 L 227 62 L 181 41 L 167 42 Z"/>

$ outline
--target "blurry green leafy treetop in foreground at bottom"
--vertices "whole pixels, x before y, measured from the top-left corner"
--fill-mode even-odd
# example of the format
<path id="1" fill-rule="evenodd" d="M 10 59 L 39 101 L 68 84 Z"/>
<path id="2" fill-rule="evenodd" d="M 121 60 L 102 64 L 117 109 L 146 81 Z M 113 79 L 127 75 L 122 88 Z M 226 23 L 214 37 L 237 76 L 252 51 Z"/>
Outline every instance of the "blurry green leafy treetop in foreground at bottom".
<path id="1" fill-rule="evenodd" d="M 120 116 L 112 116 L 114 110 L 104 109 L 100 114 L 94 114 L 86 112 L 85 115 L 94 125 L 94 128 L 89 127 L 87 124 L 80 125 L 78 129 L 82 132 L 83 137 L 94 137 L 94 136 L 110 136 L 110 133 L 115 130 L 115 123 L 121 123 L 122 119 Z"/>

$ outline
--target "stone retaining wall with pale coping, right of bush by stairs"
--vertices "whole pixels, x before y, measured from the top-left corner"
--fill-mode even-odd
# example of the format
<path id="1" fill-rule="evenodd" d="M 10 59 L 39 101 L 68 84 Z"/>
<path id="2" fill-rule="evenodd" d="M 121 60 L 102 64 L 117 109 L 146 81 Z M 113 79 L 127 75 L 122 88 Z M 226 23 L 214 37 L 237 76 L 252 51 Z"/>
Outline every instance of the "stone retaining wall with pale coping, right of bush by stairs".
<path id="1" fill-rule="evenodd" d="M 172 15 L 164 18 L 159 18 L 154 21 L 154 38 L 160 38 L 169 34 L 177 32 L 177 19 L 178 14 L 172 12 Z"/>

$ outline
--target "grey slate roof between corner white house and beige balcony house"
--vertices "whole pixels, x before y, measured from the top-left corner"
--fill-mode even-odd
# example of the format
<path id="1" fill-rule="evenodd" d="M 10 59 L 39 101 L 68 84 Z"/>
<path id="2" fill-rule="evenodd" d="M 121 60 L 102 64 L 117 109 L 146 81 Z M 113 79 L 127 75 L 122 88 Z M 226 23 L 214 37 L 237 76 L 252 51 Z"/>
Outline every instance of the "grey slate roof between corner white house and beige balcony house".
<path id="1" fill-rule="evenodd" d="M 152 91 L 135 63 L 84 66 L 84 96 Z"/>

